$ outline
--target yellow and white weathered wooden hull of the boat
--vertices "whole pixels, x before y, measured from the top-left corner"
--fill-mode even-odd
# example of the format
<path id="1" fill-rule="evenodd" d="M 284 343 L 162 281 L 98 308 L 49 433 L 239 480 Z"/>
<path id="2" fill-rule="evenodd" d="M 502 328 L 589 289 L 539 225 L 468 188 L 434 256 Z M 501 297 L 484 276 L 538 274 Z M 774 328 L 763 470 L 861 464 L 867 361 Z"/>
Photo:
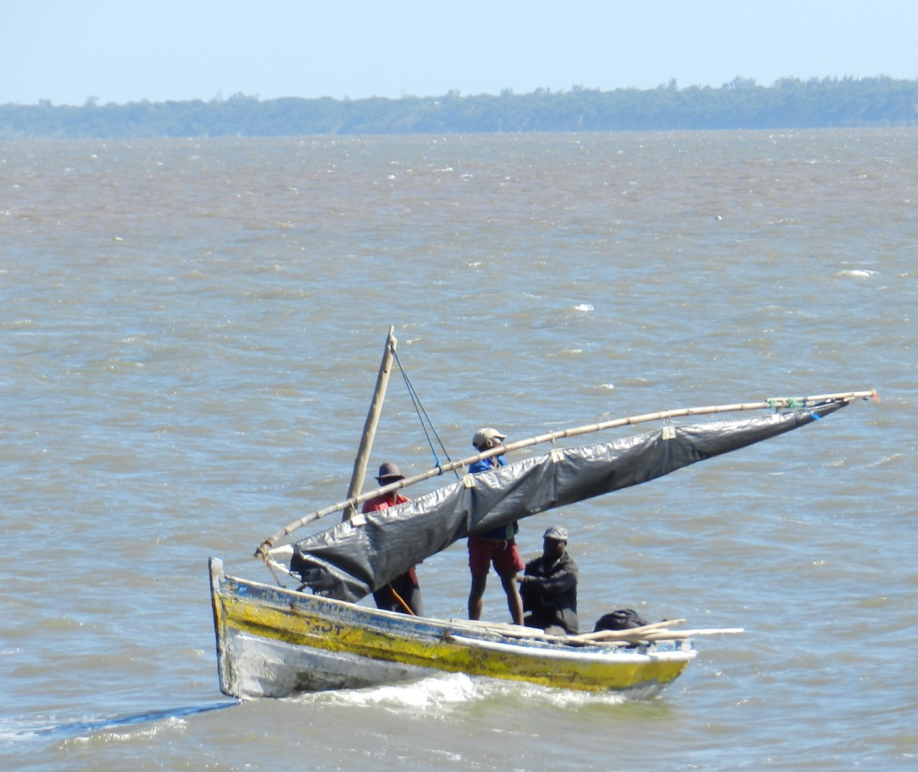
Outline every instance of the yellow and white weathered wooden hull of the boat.
<path id="1" fill-rule="evenodd" d="M 572 646 L 370 609 L 227 576 L 217 558 L 210 559 L 210 584 L 220 690 L 243 699 L 438 672 L 646 698 L 696 655 L 686 642 Z"/>

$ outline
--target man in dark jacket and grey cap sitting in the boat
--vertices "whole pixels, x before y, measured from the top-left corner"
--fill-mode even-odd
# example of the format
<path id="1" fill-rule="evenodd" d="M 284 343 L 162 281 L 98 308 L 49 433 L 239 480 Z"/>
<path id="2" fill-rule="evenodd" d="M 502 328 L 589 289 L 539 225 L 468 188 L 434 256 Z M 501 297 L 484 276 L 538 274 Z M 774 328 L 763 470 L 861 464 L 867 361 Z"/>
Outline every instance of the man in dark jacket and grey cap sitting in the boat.
<path id="1" fill-rule="evenodd" d="M 567 554 L 567 529 L 553 525 L 543 535 L 541 557 L 526 564 L 520 580 L 527 627 L 550 635 L 577 633 L 577 564 Z"/>

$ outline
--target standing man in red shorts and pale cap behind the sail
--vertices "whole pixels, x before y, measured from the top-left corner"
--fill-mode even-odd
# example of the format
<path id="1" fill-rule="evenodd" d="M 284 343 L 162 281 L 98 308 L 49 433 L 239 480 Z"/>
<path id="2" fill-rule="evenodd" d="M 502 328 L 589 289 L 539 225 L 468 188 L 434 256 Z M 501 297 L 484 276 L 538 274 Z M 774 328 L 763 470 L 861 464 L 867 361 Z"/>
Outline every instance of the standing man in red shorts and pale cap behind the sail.
<path id="1" fill-rule="evenodd" d="M 479 453 L 496 448 L 504 440 L 506 434 L 501 434 L 493 427 L 486 427 L 476 431 L 472 444 Z M 487 472 L 497 466 L 504 466 L 507 462 L 502 455 L 490 456 L 481 461 L 476 461 L 468 467 L 469 474 Z M 500 577 L 500 584 L 507 595 L 507 608 L 510 619 L 514 624 L 522 624 L 522 599 L 517 588 L 516 575 L 522 571 L 525 564 L 520 557 L 516 545 L 516 533 L 520 526 L 514 520 L 508 525 L 478 533 L 468 537 L 468 567 L 472 572 L 472 589 L 468 596 L 468 618 L 480 620 L 484 607 L 485 587 L 490 566 L 494 565 Z"/>

